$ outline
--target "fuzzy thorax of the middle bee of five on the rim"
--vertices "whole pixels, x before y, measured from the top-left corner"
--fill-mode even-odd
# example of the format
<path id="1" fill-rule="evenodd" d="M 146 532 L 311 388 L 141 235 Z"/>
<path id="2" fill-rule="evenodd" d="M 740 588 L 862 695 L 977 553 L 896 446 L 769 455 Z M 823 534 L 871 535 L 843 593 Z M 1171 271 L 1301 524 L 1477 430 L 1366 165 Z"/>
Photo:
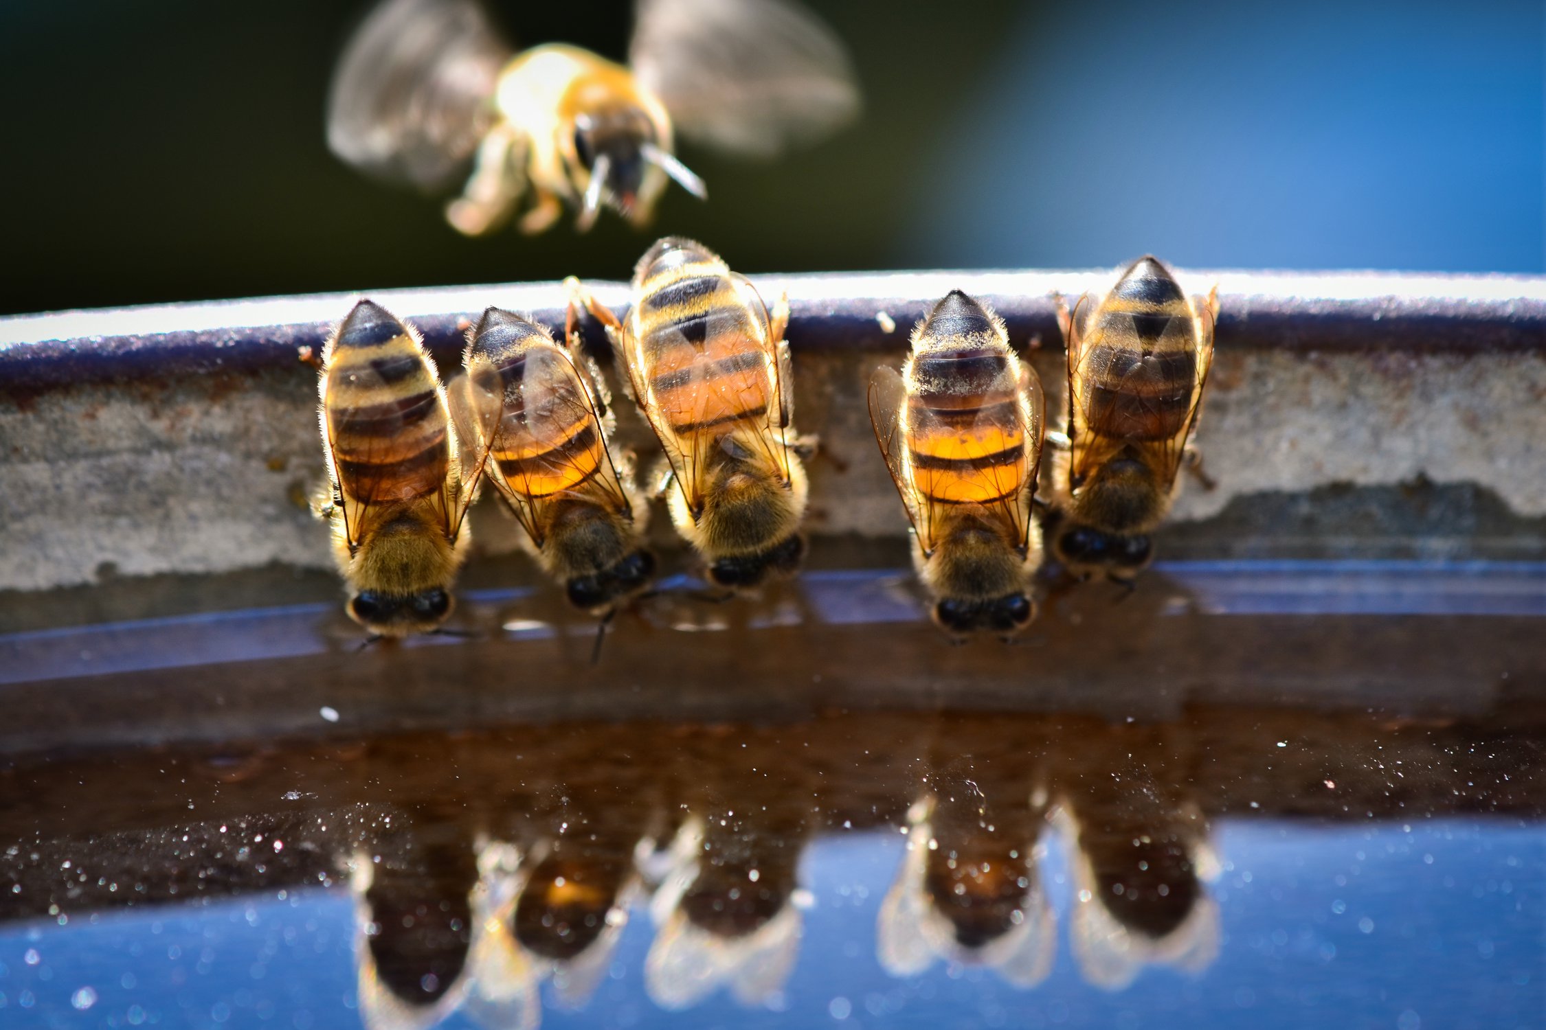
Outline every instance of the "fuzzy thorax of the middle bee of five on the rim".
<path id="1" fill-rule="evenodd" d="M 805 516 L 809 482 L 799 457 L 788 456 L 788 483 L 765 460 L 727 459 L 703 483 L 703 511 L 693 517 L 680 490 L 671 491 L 671 522 L 708 561 L 761 554 L 787 540 Z"/>

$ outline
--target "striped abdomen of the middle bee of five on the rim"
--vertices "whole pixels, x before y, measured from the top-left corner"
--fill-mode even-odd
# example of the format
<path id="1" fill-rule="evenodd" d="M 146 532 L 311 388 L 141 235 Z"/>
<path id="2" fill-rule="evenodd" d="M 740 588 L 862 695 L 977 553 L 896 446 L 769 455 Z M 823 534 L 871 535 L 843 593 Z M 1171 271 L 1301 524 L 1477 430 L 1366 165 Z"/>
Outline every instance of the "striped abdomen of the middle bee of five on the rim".
<path id="1" fill-rule="evenodd" d="M 686 241 L 662 241 L 635 278 L 635 375 L 663 428 L 679 437 L 725 435 L 768 423 L 775 401 L 765 313 L 730 269 Z"/>

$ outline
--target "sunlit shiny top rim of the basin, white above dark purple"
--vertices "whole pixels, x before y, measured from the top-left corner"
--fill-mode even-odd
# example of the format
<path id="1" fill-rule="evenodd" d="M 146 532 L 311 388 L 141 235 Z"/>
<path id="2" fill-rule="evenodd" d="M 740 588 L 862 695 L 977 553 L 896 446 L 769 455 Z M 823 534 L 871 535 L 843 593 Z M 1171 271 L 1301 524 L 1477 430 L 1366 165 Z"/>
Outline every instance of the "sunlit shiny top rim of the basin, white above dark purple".
<path id="1" fill-rule="evenodd" d="M 1546 276 L 1376 272 L 1180 270 L 1218 283 L 1220 340 L 1229 347 L 1297 351 L 1546 349 Z M 787 290 L 796 351 L 900 349 L 926 306 L 951 289 L 986 298 L 1017 344 L 1059 346 L 1056 295 L 1112 281 L 1110 270 L 855 272 L 751 276 L 764 296 Z M 587 283 L 621 310 L 623 283 Z M 59 386 L 173 374 L 252 374 L 294 366 L 320 346 L 354 300 L 369 295 L 411 320 L 431 354 L 459 363 L 468 320 L 495 304 L 561 324 L 560 283 L 388 289 L 233 301 L 66 310 L 0 318 L 0 397 Z M 589 341 L 604 346 L 592 324 Z"/>

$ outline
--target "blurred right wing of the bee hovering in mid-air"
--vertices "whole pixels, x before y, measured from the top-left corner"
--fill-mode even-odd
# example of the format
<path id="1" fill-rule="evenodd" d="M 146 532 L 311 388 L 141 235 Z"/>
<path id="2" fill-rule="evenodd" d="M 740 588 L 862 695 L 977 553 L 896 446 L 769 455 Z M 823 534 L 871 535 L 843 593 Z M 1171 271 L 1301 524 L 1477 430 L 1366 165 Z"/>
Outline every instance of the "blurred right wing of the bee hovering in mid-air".
<path id="1" fill-rule="evenodd" d="M 638 0 L 629 63 L 682 136 L 748 156 L 858 116 L 838 37 L 785 0 Z"/>

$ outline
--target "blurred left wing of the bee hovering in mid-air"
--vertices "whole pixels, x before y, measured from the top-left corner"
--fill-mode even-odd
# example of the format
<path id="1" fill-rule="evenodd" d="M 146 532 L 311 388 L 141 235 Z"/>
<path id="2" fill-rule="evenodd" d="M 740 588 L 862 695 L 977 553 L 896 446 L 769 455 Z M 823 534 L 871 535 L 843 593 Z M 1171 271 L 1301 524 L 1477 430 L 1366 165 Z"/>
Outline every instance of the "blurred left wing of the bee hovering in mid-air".
<path id="1" fill-rule="evenodd" d="M 444 187 L 493 125 L 510 53 L 476 0 L 386 0 L 339 59 L 328 147 L 377 178 Z"/>

